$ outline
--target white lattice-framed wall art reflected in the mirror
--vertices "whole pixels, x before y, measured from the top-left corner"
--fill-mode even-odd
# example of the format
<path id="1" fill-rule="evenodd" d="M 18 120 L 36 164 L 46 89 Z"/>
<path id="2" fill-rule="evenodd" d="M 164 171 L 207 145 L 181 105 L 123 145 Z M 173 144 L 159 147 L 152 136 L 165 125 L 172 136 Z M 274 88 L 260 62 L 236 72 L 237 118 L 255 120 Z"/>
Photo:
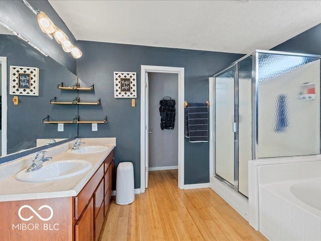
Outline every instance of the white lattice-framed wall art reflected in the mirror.
<path id="1" fill-rule="evenodd" d="M 39 95 L 39 68 L 10 66 L 10 94 Z"/>

